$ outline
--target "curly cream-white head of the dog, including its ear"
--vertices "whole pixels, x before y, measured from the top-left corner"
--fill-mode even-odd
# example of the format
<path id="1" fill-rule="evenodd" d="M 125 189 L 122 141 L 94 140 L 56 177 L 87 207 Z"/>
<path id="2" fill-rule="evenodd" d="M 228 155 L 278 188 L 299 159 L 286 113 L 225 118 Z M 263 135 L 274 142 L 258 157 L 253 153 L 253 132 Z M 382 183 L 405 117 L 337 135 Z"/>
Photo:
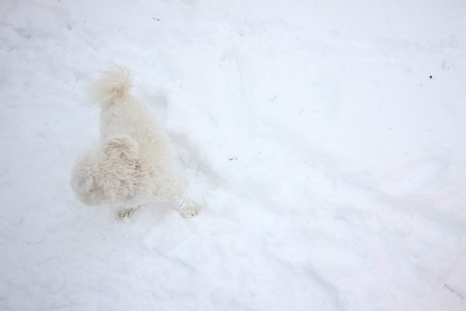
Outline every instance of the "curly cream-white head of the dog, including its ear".
<path id="1" fill-rule="evenodd" d="M 76 161 L 71 186 L 87 205 L 124 202 L 138 183 L 139 146 L 128 135 L 112 137 Z"/>

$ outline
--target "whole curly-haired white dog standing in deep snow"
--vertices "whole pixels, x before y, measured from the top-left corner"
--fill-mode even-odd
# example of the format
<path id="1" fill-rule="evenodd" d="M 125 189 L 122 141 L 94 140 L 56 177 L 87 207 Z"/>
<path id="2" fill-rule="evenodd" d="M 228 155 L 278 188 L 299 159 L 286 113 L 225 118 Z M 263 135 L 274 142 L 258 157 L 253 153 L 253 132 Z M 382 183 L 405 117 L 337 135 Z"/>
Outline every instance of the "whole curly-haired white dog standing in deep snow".
<path id="1" fill-rule="evenodd" d="M 100 141 L 76 161 L 71 185 L 88 205 L 114 205 L 119 217 L 155 197 L 170 200 L 183 217 L 199 213 L 173 176 L 168 138 L 152 112 L 129 94 L 128 69 L 103 72 L 89 89 L 100 107 Z"/>

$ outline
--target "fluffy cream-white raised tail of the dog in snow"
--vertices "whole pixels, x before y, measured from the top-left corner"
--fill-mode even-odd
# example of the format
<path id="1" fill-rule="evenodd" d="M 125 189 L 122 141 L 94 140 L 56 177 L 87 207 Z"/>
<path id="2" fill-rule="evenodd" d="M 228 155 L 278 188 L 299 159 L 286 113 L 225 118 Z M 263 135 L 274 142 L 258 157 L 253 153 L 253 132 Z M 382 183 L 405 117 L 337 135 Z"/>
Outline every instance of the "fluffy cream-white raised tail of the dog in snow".
<path id="1" fill-rule="evenodd" d="M 92 105 L 102 106 L 127 94 L 133 86 L 133 75 L 128 68 L 114 66 L 102 71 L 100 78 L 89 87 L 89 101 Z"/>

